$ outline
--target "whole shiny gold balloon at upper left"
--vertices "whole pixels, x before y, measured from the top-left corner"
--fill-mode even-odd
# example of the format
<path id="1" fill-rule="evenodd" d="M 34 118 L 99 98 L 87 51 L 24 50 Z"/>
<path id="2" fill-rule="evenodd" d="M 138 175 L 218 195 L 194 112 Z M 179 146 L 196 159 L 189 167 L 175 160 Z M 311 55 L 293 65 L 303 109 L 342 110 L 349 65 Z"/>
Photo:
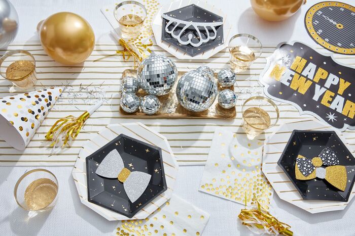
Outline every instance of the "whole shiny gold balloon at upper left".
<path id="1" fill-rule="evenodd" d="M 95 46 L 89 23 L 71 12 L 59 12 L 37 26 L 44 51 L 55 61 L 73 65 L 85 61 Z"/>

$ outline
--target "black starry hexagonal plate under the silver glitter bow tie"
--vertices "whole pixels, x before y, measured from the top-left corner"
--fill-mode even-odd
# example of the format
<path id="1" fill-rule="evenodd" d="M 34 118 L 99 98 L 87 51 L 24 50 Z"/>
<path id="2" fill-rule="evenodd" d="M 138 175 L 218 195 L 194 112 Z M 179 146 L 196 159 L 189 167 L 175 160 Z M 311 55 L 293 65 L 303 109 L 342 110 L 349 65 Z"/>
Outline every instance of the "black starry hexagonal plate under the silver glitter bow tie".
<path id="1" fill-rule="evenodd" d="M 123 183 L 117 178 L 104 178 L 95 173 L 105 156 L 114 149 L 121 155 L 125 168 L 152 176 L 146 191 L 134 203 L 130 202 Z M 88 156 L 86 172 L 88 201 L 129 218 L 167 189 L 161 149 L 124 134 Z"/>

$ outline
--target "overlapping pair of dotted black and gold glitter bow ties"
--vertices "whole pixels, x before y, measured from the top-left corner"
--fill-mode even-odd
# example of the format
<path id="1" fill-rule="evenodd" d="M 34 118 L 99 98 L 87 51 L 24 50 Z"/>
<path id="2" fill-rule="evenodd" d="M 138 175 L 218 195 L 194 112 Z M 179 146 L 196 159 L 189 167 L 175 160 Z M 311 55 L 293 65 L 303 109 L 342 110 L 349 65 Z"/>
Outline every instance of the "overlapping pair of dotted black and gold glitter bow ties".
<path id="1" fill-rule="evenodd" d="M 322 165 L 328 166 L 326 168 Z M 318 157 L 307 159 L 298 155 L 295 166 L 296 179 L 309 180 L 315 177 L 325 179 L 334 187 L 345 191 L 346 169 L 339 165 L 339 159 L 333 150 L 325 148 Z"/>

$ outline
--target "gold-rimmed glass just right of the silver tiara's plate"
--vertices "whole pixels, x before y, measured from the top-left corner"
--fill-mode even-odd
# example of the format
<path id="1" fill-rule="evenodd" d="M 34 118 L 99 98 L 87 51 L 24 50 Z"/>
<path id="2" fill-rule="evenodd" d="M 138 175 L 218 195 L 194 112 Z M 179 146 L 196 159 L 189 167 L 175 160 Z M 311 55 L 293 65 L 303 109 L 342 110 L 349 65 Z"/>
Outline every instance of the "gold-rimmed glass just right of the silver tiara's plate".
<path id="1" fill-rule="evenodd" d="M 234 72 L 247 70 L 261 56 L 263 45 L 251 34 L 236 34 L 229 40 L 230 64 Z"/>

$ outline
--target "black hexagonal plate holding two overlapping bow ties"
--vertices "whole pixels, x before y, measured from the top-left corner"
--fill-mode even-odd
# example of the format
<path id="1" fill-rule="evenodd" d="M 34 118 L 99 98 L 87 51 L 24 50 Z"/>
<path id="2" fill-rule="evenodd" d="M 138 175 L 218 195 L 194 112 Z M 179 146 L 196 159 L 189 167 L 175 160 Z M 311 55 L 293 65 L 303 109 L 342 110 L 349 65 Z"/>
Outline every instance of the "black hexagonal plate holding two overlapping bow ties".
<path id="1" fill-rule="evenodd" d="M 347 172 L 345 191 L 340 191 L 325 179 L 298 180 L 295 176 L 296 158 L 302 155 L 312 159 L 326 147 L 332 149 L 339 165 Z M 355 181 L 355 159 L 334 131 L 294 130 L 277 164 L 288 175 L 304 200 L 329 200 L 347 202 Z M 326 166 L 322 166 L 326 168 Z"/>

